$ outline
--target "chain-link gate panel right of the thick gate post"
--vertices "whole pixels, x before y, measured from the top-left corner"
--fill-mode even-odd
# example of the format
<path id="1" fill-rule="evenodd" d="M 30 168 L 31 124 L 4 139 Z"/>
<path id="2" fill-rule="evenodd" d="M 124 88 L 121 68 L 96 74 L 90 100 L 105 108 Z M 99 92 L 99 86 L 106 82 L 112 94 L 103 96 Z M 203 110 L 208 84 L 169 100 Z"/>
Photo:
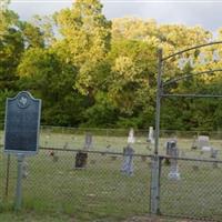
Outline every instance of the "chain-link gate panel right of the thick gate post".
<path id="1" fill-rule="evenodd" d="M 161 161 L 161 214 L 222 221 L 222 162 L 180 158 L 174 160 L 178 168 L 178 178 L 174 179 L 170 176 L 172 163 L 169 165 L 164 158 Z"/>

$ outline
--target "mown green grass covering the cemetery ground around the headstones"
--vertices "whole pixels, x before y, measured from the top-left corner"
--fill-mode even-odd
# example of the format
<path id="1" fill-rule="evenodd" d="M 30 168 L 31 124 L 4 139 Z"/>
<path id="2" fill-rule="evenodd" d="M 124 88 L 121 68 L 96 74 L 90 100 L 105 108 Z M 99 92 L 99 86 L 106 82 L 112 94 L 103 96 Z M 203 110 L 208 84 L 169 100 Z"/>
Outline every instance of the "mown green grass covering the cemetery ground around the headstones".
<path id="1" fill-rule="evenodd" d="M 151 154 L 153 148 L 148 149 L 145 138 L 138 138 L 134 145 L 135 153 Z M 163 144 L 160 142 L 160 152 L 164 154 Z M 42 133 L 40 144 L 48 148 L 81 149 L 84 144 L 83 135 L 62 133 Z M 221 141 L 211 141 L 221 149 Z M 122 152 L 127 144 L 123 137 L 93 137 L 93 150 L 107 151 L 107 145 L 112 144 L 109 151 Z M 191 150 L 192 140 L 181 139 L 179 148 L 185 157 L 200 155 L 199 151 Z M 134 175 L 121 174 L 122 155 L 117 160 L 111 154 L 89 153 L 88 167 L 75 170 L 75 152 L 57 151 L 57 162 L 49 155 L 48 150 L 40 150 L 34 157 L 28 157 L 29 175 L 22 180 L 23 202 L 21 214 L 11 214 L 10 209 L 14 201 L 17 181 L 17 160 L 11 157 L 9 194 L 6 196 L 6 165 L 7 157 L 0 155 L 0 221 L 122 221 L 133 215 L 144 215 L 150 208 L 150 159 L 134 158 Z M 220 153 L 221 154 L 221 153 Z M 192 167 L 199 165 L 194 171 Z M 220 167 L 220 165 L 219 165 Z M 222 165 L 221 165 L 222 167 Z M 170 168 L 163 165 L 161 174 L 161 213 L 222 220 L 222 171 L 213 169 L 211 163 L 179 161 L 181 180 L 175 182 L 168 178 Z M 6 208 L 6 202 L 9 208 Z M 28 212 L 28 219 L 24 214 Z M 8 216 L 8 218 L 7 218 Z M 10 218 L 11 216 L 11 218 Z M 3 219 L 3 220 L 1 220 Z M 54 220 L 53 220 L 54 219 Z"/>

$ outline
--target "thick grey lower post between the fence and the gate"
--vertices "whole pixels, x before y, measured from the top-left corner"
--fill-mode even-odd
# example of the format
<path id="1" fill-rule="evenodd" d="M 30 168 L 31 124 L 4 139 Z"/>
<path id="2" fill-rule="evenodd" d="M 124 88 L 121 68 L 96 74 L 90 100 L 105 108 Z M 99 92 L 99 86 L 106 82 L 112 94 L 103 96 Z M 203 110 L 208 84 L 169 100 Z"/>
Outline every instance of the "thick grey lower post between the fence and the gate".
<path id="1" fill-rule="evenodd" d="M 151 195 L 150 195 L 150 210 L 152 214 L 160 213 L 160 157 L 152 157 L 151 168 Z"/>

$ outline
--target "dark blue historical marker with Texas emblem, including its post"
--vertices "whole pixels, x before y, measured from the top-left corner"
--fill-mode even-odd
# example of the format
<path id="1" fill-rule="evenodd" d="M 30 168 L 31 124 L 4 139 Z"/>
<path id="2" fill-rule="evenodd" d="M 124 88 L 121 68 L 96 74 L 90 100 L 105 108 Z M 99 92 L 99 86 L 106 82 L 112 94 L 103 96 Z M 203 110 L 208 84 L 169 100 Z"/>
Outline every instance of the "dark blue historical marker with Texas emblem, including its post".
<path id="1" fill-rule="evenodd" d="M 16 208 L 21 206 L 21 180 L 27 170 L 26 155 L 36 154 L 39 149 L 41 100 L 22 91 L 7 99 L 4 122 L 4 152 L 18 157 Z"/>

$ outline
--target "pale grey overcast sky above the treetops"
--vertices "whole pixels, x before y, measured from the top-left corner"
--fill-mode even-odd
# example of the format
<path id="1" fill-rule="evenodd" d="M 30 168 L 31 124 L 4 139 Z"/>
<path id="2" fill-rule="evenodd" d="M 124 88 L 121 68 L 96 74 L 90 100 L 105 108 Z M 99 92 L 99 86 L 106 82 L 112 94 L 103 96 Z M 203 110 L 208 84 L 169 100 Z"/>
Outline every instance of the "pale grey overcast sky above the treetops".
<path id="1" fill-rule="evenodd" d="M 50 14 L 70 7 L 73 0 L 11 0 L 10 8 L 21 19 L 29 20 L 33 14 Z M 183 23 L 202 26 L 215 32 L 222 27 L 222 0 L 103 0 L 103 13 L 108 19 L 134 16 L 153 18 L 159 23 Z"/>

